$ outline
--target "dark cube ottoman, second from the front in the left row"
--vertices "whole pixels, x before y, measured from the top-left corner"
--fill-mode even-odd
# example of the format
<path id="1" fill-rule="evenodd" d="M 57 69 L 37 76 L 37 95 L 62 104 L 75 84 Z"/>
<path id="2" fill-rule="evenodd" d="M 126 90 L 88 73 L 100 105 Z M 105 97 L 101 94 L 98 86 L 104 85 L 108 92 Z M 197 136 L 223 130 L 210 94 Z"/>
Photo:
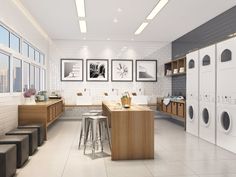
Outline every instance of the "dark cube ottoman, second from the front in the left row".
<path id="1" fill-rule="evenodd" d="M 0 144 L 16 145 L 17 168 L 20 168 L 28 160 L 29 157 L 29 137 L 21 136 L 0 136 Z"/>

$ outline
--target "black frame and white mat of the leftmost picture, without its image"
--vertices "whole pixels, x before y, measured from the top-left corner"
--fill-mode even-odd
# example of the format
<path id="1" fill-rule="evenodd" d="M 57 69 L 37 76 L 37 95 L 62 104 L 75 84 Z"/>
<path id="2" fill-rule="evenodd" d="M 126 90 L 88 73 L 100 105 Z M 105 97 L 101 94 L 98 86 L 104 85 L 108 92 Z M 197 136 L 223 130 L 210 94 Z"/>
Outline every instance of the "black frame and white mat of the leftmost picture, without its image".
<path id="1" fill-rule="evenodd" d="M 68 78 L 65 77 L 65 72 L 67 74 L 69 74 L 70 71 L 65 71 L 66 68 L 65 67 L 68 67 L 68 70 L 71 70 L 72 68 L 71 67 L 74 67 L 74 66 L 71 66 L 71 65 L 68 65 L 66 66 L 65 63 L 76 63 L 80 65 L 80 77 L 78 76 L 78 78 L 76 78 L 74 76 L 67 76 Z M 62 58 L 61 59 L 61 67 L 60 67 L 60 78 L 61 78 L 61 81 L 62 82 L 78 82 L 78 81 L 83 81 L 84 80 L 84 60 L 83 59 L 75 59 L 75 58 Z M 64 76 L 63 76 L 64 75 Z"/>

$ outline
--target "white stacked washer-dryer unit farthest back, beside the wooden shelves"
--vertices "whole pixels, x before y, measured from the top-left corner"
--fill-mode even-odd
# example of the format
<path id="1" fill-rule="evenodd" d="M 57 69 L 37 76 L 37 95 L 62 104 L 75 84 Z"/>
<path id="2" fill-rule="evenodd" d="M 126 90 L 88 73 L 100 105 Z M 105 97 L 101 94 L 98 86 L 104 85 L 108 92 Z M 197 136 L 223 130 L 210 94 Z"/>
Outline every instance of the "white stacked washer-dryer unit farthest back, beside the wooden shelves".
<path id="1" fill-rule="evenodd" d="M 186 131 L 198 136 L 199 51 L 187 54 Z"/>

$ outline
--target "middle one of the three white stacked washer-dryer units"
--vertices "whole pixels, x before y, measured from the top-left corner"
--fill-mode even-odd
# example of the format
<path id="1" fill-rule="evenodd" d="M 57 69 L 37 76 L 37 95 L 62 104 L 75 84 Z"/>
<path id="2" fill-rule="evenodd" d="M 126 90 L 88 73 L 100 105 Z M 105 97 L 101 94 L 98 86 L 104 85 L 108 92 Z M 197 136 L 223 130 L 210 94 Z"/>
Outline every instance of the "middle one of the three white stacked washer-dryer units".
<path id="1" fill-rule="evenodd" d="M 199 137 L 215 144 L 216 45 L 199 50 Z"/>

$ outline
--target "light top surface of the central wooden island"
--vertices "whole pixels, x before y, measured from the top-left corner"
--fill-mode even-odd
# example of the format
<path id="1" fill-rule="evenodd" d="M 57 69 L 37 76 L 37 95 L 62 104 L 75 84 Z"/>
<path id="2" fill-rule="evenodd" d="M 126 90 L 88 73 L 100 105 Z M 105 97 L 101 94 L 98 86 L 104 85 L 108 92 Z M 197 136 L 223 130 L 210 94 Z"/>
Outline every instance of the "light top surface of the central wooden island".
<path id="1" fill-rule="evenodd" d="M 131 105 L 130 108 L 123 108 L 121 104 L 114 102 L 102 102 L 110 111 L 152 111 L 147 106 Z"/>

